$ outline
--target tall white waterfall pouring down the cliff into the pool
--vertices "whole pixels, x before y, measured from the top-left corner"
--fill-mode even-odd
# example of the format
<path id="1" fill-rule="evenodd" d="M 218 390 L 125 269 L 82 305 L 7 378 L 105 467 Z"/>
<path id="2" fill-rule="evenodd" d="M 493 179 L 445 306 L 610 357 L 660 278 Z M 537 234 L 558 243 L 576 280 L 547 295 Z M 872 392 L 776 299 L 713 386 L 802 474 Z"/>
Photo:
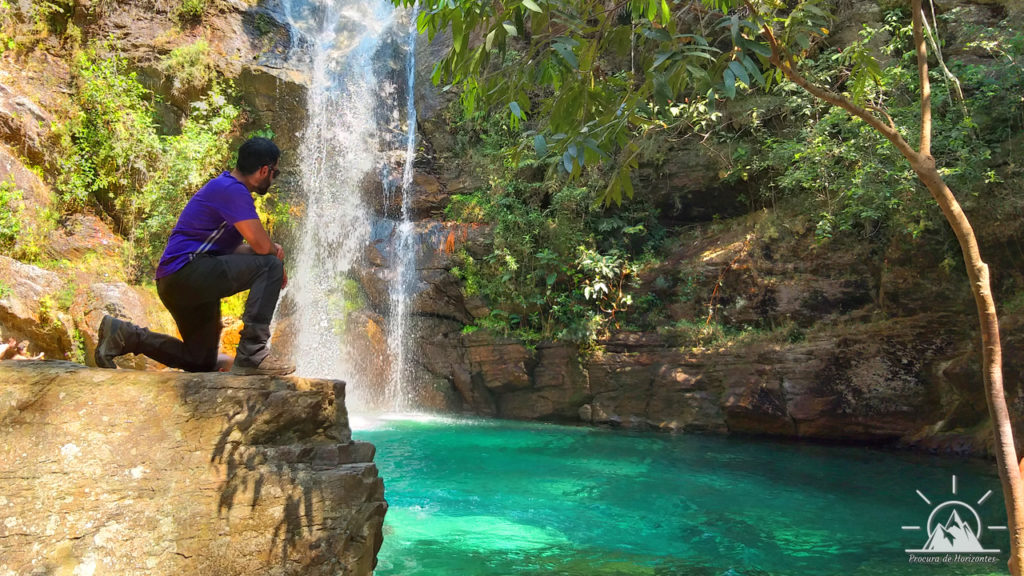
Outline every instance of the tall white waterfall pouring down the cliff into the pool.
<path id="1" fill-rule="evenodd" d="M 394 408 L 403 398 L 390 388 L 402 380 L 409 307 L 408 295 L 395 293 L 415 269 L 408 198 L 400 214 L 388 208 L 397 165 L 402 190 L 413 176 L 415 63 L 403 26 L 411 14 L 388 0 L 283 0 L 282 9 L 293 34 L 289 61 L 309 77 L 293 278 L 279 310 L 288 311 L 287 347 L 298 375 L 346 380 L 350 407 Z M 378 311 L 366 290 L 375 241 L 389 285 Z"/>

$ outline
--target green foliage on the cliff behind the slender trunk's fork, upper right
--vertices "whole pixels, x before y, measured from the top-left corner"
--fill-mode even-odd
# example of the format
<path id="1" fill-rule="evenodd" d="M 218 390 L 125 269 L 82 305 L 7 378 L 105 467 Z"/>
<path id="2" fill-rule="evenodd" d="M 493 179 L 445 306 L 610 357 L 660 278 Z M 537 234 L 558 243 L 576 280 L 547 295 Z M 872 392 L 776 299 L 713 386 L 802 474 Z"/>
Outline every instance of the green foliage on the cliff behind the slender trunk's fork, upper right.
<path id="1" fill-rule="evenodd" d="M 858 79 L 848 66 L 865 56 L 851 56 L 851 52 L 861 50 L 880 32 L 892 39 L 886 44 L 892 64 L 885 69 L 877 68 L 877 63 L 864 65 L 873 70 L 864 71 L 864 78 Z M 1002 44 L 1009 48 L 1016 36 L 1020 34 L 1008 28 L 1002 36 L 993 37 L 1010 37 Z M 887 112 L 897 126 L 916 125 L 921 113 L 915 96 L 918 70 L 909 26 L 901 13 L 888 13 L 884 29 L 865 29 L 861 42 L 817 61 L 805 61 L 805 67 L 820 83 L 844 85 L 857 99 L 887 97 Z M 1024 91 L 1024 69 L 1010 60 L 989 67 L 953 63 L 951 68 L 966 100 L 957 101 L 942 74 L 932 71 L 932 154 L 953 190 L 977 193 L 994 177 L 987 161 L 1002 141 L 1024 128 L 1024 102 L 1019 97 Z M 773 126 L 756 127 L 763 147 L 744 166 L 751 172 L 772 175 L 763 189 L 763 201 L 805 199 L 808 211 L 818 215 L 819 238 L 843 233 L 919 237 L 928 230 L 944 229 L 941 214 L 922 191 L 916 175 L 882 134 L 842 110 L 815 102 L 794 84 L 783 82 L 779 91 L 791 98 L 790 109 L 797 112 L 791 124 L 797 128 L 779 137 Z M 916 133 L 906 135 L 916 137 Z"/>

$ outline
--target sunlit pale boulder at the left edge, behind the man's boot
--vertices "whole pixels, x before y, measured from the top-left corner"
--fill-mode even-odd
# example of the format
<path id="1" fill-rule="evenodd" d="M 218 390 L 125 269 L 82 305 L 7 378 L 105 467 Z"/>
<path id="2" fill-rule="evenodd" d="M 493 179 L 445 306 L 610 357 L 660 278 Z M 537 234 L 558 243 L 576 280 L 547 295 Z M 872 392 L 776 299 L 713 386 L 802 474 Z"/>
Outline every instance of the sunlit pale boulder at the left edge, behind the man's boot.
<path id="1" fill-rule="evenodd" d="M 0 256 L 0 336 L 29 340 L 33 354 L 72 358 L 71 317 L 60 308 L 65 283 L 56 274 Z"/>

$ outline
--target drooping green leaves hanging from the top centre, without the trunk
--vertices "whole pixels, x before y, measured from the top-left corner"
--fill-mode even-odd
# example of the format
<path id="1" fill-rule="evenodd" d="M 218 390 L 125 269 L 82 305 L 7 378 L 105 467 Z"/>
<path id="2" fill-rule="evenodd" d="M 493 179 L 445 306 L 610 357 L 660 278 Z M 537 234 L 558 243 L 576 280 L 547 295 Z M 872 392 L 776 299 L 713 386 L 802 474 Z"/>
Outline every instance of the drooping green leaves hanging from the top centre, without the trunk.
<path id="1" fill-rule="evenodd" d="M 420 30 L 431 38 L 451 30 L 454 40 L 434 82 L 458 85 L 469 113 L 500 111 L 513 130 L 524 129 L 520 154 L 532 152 L 570 178 L 610 167 L 600 181 L 606 203 L 632 197 L 638 141 L 686 125 L 689 100 L 766 82 L 769 50 L 751 23 L 730 16 L 709 28 L 677 17 L 685 3 L 633 0 L 608 9 L 592 0 L 431 0 L 421 7 Z M 471 45 L 474 34 L 484 41 Z M 736 49 L 720 49 L 724 38 Z"/>

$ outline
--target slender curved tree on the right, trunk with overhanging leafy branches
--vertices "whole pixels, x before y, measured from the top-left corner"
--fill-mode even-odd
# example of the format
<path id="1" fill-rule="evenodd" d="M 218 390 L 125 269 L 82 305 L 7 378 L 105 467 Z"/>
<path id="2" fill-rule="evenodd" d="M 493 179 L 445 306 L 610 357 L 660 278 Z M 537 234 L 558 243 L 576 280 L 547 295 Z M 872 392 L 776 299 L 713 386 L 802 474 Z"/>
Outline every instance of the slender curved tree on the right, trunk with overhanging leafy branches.
<path id="1" fill-rule="evenodd" d="M 413 0 L 395 0 L 412 4 Z M 804 57 L 828 34 L 820 0 L 426 0 L 419 26 L 451 31 L 434 82 L 456 84 L 467 110 L 530 118 L 526 140 L 573 177 L 611 169 L 606 202 L 632 196 L 640 141 L 651 130 L 714 121 L 715 101 L 738 87 L 784 79 L 882 134 L 907 160 L 956 236 L 981 331 L 983 380 L 1009 518 L 1010 569 L 1024 576 L 1024 487 L 1002 386 L 998 319 L 987 264 L 971 222 L 932 156 L 932 91 L 922 0 L 911 0 L 921 116 L 914 148 L 880 104 L 864 98 L 880 65 L 866 46 L 845 52 L 847 93 L 815 83 Z M 941 60 L 940 60 L 941 61 Z"/>

